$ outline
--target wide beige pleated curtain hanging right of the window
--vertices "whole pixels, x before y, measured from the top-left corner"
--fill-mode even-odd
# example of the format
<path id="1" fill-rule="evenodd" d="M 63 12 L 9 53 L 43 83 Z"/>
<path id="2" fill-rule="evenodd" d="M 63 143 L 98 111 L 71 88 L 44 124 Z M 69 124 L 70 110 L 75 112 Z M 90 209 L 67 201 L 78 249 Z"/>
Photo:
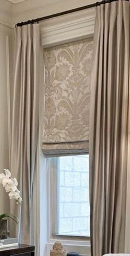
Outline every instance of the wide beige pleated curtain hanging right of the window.
<path id="1" fill-rule="evenodd" d="M 129 2 L 96 8 L 90 106 L 91 256 L 124 252 Z"/>

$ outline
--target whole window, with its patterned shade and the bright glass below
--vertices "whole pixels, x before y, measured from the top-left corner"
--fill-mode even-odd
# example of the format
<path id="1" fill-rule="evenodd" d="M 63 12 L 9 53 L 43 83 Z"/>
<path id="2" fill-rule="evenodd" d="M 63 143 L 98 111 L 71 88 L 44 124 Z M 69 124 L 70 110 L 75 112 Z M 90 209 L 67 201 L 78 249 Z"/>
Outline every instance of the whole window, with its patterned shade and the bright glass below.
<path id="1" fill-rule="evenodd" d="M 90 236 L 89 155 L 86 153 L 89 153 L 92 53 L 92 38 L 44 51 L 42 150 L 47 158 L 48 241 L 61 239 L 67 246 L 71 244 L 68 251 L 75 250 L 82 255 L 86 254 L 86 244 L 90 245 L 86 239 Z"/>

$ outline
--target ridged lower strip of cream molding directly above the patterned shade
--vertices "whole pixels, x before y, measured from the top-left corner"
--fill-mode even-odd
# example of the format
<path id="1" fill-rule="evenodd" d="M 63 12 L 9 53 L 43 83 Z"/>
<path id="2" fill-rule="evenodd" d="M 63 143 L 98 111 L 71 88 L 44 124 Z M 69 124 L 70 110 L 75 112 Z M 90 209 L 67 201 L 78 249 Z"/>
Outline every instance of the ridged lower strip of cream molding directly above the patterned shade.
<path id="1" fill-rule="evenodd" d="M 41 28 L 41 40 L 44 47 L 68 43 L 84 38 L 90 38 L 94 34 L 95 17 L 82 18 L 72 23 L 60 26 Z"/>

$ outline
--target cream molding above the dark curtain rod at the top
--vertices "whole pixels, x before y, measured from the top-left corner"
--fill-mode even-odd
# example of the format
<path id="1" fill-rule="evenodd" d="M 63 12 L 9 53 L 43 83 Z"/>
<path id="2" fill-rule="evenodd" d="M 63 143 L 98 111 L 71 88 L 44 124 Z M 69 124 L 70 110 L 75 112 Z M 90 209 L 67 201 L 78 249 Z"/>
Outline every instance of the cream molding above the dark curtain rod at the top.
<path id="1" fill-rule="evenodd" d="M 94 2 L 95 0 L 87 0 L 87 4 Z M 67 11 L 85 5 L 86 0 L 80 0 L 80 3 L 79 0 L 28 0 L 19 4 L 13 4 L 13 26 L 18 22 L 35 19 L 37 17 L 45 17 L 46 15 Z"/>

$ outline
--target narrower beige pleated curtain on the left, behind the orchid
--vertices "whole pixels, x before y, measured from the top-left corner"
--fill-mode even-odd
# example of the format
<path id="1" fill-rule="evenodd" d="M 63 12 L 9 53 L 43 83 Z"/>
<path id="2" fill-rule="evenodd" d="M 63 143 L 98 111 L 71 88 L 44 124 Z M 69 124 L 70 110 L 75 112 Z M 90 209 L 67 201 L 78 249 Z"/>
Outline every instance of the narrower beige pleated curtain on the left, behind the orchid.
<path id="1" fill-rule="evenodd" d="M 30 231 L 33 230 L 31 227 L 32 188 L 34 171 L 39 171 L 40 56 L 42 55 L 40 50 L 39 24 L 16 28 L 10 169 L 18 178 L 18 187 L 23 198 L 20 208 L 19 235 L 20 242 L 25 244 L 30 243 Z M 14 205 L 11 207 L 12 213 L 18 215 L 19 208 L 14 208 Z M 39 235 L 38 230 L 37 227 Z M 10 233 L 15 234 L 12 226 Z"/>

